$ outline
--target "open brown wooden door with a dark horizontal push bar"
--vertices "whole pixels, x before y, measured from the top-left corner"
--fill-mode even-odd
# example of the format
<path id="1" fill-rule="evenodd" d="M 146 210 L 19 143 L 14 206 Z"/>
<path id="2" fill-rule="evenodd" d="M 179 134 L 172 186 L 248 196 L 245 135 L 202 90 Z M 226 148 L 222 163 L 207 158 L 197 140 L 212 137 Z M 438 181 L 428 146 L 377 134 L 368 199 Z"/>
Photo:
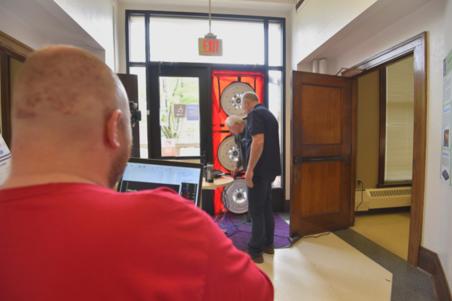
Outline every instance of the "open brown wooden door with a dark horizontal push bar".
<path id="1" fill-rule="evenodd" d="M 347 228 L 352 80 L 292 71 L 291 89 L 290 234 Z"/>

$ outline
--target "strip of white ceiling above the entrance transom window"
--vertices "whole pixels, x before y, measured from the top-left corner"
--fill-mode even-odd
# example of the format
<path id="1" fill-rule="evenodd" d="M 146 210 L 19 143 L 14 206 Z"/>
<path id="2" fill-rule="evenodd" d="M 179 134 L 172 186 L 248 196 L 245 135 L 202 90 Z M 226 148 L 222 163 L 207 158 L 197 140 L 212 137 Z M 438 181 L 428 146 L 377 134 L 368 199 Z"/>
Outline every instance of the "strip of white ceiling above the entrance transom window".
<path id="1" fill-rule="evenodd" d="M 209 0 L 116 0 L 121 4 L 204 7 L 208 8 Z M 212 9 L 238 9 L 255 11 L 290 12 L 296 0 L 211 0 Z M 215 13 L 212 11 L 212 13 Z"/>

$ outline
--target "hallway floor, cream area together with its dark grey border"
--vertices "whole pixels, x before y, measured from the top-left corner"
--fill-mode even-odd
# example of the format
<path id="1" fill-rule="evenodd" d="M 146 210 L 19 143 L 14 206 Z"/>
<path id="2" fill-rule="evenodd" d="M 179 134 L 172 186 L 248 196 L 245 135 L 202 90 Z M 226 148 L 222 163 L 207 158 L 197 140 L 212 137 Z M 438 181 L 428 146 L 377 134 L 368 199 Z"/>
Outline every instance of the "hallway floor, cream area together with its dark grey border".
<path id="1" fill-rule="evenodd" d="M 276 301 L 435 301 L 427 275 L 352 228 L 302 238 L 258 266 Z"/>

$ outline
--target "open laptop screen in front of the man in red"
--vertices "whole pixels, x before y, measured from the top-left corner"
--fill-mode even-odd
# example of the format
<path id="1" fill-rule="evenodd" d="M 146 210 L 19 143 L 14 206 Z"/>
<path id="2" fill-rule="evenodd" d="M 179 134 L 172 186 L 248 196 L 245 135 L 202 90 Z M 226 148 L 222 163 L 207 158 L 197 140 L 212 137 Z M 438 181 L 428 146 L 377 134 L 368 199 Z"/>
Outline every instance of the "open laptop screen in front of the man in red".
<path id="1" fill-rule="evenodd" d="M 204 166 L 198 163 L 130 158 L 118 192 L 169 187 L 199 207 Z"/>

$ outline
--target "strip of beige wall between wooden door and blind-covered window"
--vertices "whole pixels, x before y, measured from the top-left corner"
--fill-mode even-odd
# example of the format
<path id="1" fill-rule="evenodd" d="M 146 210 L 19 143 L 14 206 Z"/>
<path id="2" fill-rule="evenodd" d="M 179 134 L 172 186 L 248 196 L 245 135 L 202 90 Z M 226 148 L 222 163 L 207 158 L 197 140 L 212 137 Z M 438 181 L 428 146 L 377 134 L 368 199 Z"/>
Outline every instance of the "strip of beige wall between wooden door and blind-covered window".
<path id="1" fill-rule="evenodd" d="M 365 189 L 377 188 L 380 133 L 379 71 L 358 79 L 357 180 Z M 357 187 L 361 188 L 361 186 Z"/>

